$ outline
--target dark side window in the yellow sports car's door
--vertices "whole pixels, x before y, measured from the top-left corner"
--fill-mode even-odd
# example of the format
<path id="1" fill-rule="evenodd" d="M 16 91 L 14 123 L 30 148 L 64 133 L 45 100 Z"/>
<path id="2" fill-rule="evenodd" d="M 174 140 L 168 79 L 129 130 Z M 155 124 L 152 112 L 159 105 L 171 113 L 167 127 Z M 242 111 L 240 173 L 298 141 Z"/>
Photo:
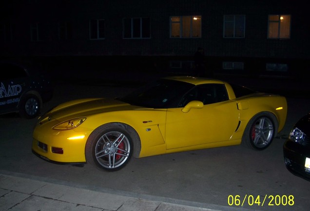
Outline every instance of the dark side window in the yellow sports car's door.
<path id="1" fill-rule="evenodd" d="M 197 85 L 184 95 L 179 107 L 183 107 L 193 100 L 208 105 L 228 100 L 228 94 L 224 84 Z"/>

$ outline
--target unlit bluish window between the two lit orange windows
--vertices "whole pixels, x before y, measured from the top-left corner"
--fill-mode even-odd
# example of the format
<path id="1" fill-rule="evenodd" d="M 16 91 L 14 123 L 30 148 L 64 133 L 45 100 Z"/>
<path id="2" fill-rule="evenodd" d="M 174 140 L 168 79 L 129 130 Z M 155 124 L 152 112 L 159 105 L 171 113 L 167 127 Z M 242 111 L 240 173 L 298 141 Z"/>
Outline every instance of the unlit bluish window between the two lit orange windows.
<path id="1" fill-rule="evenodd" d="M 225 15 L 224 16 L 224 38 L 244 38 L 245 16 Z"/>

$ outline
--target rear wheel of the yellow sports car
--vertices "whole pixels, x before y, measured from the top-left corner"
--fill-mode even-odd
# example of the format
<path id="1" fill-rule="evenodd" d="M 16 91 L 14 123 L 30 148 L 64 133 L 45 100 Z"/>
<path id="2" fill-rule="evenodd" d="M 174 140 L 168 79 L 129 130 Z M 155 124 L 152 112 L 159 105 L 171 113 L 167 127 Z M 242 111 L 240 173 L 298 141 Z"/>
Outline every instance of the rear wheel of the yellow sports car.
<path id="1" fill-rule="evenodd" d="M 262 112 L 255 115 L 244 130 L 242 145 L 255 150 L 268 148 L 276 136 L 277 127 L 273 114 Z"/>

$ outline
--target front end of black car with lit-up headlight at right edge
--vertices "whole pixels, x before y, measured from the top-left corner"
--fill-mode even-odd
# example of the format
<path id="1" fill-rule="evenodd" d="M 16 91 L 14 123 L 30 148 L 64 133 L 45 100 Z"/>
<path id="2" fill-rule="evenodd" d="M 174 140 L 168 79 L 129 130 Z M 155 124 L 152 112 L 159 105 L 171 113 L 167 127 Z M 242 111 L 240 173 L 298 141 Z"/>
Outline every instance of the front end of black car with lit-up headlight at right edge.
<path id="1" fill-rule="evenodd" d="M 287 169 L 310 181 L 310 113 L 291 129 L 283 145 L 283 152 Z"/>

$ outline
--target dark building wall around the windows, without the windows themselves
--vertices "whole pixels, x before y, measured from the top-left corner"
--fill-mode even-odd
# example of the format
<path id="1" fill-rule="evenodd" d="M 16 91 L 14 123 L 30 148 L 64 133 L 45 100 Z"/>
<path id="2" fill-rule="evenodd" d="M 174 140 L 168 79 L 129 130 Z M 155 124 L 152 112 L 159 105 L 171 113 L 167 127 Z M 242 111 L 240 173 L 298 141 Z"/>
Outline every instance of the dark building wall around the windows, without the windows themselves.
<path id="1" fill-rule="evenodd" d="M 0 6 L 0 23 L 14 26 L 13 40 L 2 40 L 2 57 L 147 56 L 155 61 L 165 57 L 191 60 L 197 47 L 203 47 L 211 63 L 210 58 L 216 58 L 218 63 L 211 66 L 218 69 L 219 63 L 233 59 L 299 63 L 310 58 L 308 13 L 291 0 L 11 0 Z M 291 15 L 290 39 L 267 39 L 271 14 Z M 170 38 L 169 17 L 187 15 L 202 16 L 202 37 Z M 245 38 L 223 38 L 224 15 L 246 15 Z M 122 38 L 122 19 L 135 17 L 150 18 L 150 39 Z M 90 19 L 105 20 L 104 40 L 89 39 Z M 72 22 L 71 40 L 58 39 L 58 21 Z M 31 42 L 30 24 L 35 22 L 42 23 L 39 42 Z"/>

